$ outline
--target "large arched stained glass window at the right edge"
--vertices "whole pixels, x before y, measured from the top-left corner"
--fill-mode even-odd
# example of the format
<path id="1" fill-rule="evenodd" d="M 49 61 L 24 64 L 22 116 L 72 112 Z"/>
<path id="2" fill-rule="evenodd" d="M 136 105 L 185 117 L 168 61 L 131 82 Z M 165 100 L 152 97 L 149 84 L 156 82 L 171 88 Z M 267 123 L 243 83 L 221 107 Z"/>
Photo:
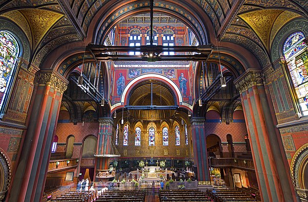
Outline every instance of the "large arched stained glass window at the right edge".
<path id="1" fill-rule="evenodd" d="M 284 58 L 303 115 L 308 115 L 308 51 L 302 32 L 289 36 L 283 46 Z"/>

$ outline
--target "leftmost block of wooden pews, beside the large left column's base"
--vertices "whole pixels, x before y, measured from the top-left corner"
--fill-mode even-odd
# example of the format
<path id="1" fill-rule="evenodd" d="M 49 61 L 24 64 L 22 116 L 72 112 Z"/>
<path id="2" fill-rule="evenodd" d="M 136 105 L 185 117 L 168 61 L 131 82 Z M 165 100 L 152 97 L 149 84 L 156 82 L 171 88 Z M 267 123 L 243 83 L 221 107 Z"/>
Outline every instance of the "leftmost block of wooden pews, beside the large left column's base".
<path id="1" fill-rule="evenodd" d="M 97 191 L 69 191 L 57 196 L 54 202 L 92 202 L 98 196 Z"/>

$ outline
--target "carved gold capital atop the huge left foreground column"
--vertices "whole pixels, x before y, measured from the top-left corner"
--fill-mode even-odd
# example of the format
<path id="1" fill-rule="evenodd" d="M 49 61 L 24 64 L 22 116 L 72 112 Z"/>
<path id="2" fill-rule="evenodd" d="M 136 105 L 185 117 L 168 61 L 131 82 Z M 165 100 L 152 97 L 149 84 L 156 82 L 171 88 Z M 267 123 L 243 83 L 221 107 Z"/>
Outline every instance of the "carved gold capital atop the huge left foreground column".
<path id="1" fill-rule="evenodd" d="M 60 91 L 61 94 L 67 89 L 68 84 L 66 79 L 52 70 L 38 72 L 35 76 L 35 82 L 37 85 L 50 85 L 52 88 Z"/>

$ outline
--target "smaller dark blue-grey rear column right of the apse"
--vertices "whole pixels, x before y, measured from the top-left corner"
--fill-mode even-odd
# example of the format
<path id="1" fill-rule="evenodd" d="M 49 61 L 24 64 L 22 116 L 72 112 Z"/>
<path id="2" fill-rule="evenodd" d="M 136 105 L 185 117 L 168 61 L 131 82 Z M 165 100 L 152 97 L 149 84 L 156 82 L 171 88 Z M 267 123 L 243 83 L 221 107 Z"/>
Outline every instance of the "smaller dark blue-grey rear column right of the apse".
<path id="1" fill-rule="evenodd" d="M 192 117 L 190 123 L 199 187 L 210 185 L 206 137 L 204 131 L 205 119 L 201 117 Z"/>

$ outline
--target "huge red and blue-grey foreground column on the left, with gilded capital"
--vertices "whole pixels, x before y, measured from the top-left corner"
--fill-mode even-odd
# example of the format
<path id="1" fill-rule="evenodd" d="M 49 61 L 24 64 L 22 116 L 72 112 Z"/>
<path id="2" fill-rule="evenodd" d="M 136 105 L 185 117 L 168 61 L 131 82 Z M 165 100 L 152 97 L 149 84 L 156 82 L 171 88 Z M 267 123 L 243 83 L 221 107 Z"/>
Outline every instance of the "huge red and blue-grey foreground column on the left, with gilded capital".
<path id="1" fill-rule="evenodd" d="M 54 128 L 68 81 L 53 70 L 38 71 L 36 95 L 8 201 L 41 201 Z"/>

